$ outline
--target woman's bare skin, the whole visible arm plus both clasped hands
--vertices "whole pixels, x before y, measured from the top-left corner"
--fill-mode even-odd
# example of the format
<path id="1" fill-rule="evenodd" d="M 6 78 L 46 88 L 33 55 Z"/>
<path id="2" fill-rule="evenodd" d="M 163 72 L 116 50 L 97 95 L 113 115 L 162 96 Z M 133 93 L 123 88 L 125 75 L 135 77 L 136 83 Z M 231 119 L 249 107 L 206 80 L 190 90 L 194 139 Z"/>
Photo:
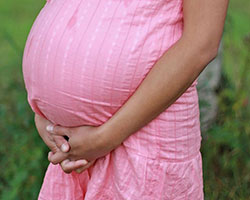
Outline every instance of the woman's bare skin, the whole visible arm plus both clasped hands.
<path id="1" fill-rule="evenodd" d="M 174 103 L 216 57 L 228 2 L 184 0 L 182 37 L 162 55 L 135 93 L 103 125 L 54 126 L 53 129 L 49 126 L 46 130 L 50 122 L 39 116 L 36 126 L 51 149 L 49 161 L 59 163 L 66 173 L 73 170 L 81 173 Z M 68 141 L 64 135 L 69 137 Z"/>

